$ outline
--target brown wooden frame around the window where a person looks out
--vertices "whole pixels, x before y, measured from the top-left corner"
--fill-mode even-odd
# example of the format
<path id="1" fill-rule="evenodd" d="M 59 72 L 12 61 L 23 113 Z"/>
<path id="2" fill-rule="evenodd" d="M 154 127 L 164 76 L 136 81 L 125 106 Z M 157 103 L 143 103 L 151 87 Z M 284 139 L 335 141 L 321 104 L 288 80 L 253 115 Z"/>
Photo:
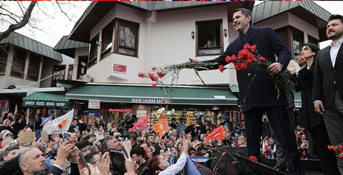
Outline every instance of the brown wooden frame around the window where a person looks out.
<path id="1" fill-rule="evenodd" d="M 220 43 L 220 46 L 211 47 L 211 48 L 199 47 L 198 25 L 199 25 L 199 23 L 205 23 L 205 22 L 219 22 L 219 43 Z M 211 19 L 211 20 L 195 21 L 195 42 L 196 42 L 196 54 L 195 54 L 195 56 L 213 56 L 213 55 L 222 54 L 224 52 L 223 19 Z M 213 50 L 213 49 L 220 49 L 220 53 L 202 54 L 202 55 L 199 54 L 199 50 Z"/>

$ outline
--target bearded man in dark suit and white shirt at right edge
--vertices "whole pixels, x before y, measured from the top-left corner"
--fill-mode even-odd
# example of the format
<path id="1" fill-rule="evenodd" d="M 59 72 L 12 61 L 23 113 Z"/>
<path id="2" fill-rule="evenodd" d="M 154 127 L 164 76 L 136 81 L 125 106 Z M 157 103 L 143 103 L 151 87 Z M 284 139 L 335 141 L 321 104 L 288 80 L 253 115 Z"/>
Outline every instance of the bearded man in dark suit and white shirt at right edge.
<path id="1" fill-rule="evenodd" d="M 318 52 L 314 68 L 312 101 L 324 122 L 332 145 L 343 142 L 343 16 L 331 15 L 326 35 L 330 46 Z M 343 174 L 343 159 L 337 158 Z"/>

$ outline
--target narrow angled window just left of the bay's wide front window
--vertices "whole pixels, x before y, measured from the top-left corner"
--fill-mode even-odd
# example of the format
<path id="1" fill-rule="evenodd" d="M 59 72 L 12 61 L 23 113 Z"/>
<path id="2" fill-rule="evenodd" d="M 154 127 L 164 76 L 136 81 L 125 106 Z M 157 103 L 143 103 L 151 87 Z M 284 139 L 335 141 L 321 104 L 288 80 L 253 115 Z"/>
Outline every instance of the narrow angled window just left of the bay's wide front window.
<path id="1" fill-rule="evenodd" d="M 109 23 L 101 32 L 100 60 L 111 54 L 113 36 L 113 23 Z"/>

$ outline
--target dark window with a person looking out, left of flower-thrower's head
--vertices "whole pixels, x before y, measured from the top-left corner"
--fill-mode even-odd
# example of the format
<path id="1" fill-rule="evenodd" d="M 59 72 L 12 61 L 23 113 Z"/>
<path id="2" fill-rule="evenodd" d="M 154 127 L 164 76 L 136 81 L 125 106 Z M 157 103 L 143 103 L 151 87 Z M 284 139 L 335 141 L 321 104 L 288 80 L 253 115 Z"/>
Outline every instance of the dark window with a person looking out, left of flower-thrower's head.
<path id="1" fill-rule="evenodd" d="M 197 56 L 223 53 L 223 21 L 196 22 Z"/>

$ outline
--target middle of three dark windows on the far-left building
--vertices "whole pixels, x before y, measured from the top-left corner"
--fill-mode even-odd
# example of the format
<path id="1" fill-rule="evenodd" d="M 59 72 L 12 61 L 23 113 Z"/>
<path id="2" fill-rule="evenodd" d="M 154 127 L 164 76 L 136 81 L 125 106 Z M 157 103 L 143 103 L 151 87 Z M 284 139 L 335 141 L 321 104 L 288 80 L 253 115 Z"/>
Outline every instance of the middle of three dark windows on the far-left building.
<path id="1" fill-rule="evenodd" d="M 11 76 L 23 78 L 27 52 L 21 49 L 15 49 L 13 55 L 14 56 L 11 68 Z"/>

